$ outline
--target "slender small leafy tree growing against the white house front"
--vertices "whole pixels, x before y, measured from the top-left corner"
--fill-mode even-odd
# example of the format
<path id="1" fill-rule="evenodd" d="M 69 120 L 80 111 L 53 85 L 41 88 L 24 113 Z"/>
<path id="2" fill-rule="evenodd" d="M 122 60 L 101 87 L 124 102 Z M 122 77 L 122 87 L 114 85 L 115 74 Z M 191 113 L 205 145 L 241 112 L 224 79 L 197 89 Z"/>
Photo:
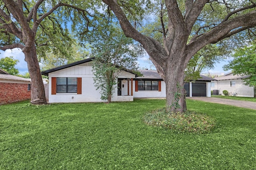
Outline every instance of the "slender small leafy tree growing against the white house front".
<path id="1" fill-rule="evenodd" d="M 111 97 L 117 85 L 117 78 L 122 70 L 136 70 L 136 60 L 142 51 L 133 40 L 127 38 L 120 29 L 108 25 L 97 32 L 97 41 L 92 42 L 95 47 L 92 51 L 96 54 L 93 62 L 94 84 L 100 89 L 101 99 L 111 102 Z"/>

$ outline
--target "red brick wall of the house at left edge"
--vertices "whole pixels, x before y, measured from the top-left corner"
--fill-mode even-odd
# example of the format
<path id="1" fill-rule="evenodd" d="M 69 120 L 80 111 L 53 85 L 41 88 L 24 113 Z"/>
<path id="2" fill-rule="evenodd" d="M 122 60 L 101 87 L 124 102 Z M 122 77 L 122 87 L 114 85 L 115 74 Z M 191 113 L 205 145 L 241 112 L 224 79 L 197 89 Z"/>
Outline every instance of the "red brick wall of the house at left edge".
<path id="1" fill-rule="evenodd" d="M 0 82 L 0 105 L 30 98 L 28 84 Z"/>

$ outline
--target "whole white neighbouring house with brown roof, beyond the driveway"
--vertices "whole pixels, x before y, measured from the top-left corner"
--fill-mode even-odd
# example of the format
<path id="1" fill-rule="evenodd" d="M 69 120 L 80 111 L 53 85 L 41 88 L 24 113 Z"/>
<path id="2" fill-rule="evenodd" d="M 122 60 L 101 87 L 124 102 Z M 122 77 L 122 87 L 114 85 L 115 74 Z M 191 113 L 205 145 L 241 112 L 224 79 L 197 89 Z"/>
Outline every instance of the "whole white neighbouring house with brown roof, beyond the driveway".
<path id="1" fill-rule="evenodd" d="M 224 76 L 215 77 L 215 81 L 211 83 L 213 94 L 222 94 L 223 90 L 228 90 L 230 96 L 255 97 L 256 90 L 253 86 L 243 84 L 243 78 L 249 76 L 233 75 L 232 72 L 224 74 Z"/>

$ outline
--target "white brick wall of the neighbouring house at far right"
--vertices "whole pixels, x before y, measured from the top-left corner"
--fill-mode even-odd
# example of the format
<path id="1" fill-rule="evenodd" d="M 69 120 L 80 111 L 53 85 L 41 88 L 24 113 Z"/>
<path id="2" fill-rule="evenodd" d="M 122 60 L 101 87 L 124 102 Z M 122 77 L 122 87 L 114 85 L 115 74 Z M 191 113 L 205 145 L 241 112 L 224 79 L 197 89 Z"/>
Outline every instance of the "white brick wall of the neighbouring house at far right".
<path id="1" fill-rule="evenodd" d="M 235 81 L 236 85 L 231 87 L 230 81 Z M 214 87 L 211 87 L 211 90 L 219 90 L 219 94 L 222 94 L 223 90 L 228 90 L 230 95 L 236 93 L 237 96 L 240 97 L 254 97 L 254 87 L 244 85 L 242 79 L 218 80 L 212 82 L 214 82 Z"/>

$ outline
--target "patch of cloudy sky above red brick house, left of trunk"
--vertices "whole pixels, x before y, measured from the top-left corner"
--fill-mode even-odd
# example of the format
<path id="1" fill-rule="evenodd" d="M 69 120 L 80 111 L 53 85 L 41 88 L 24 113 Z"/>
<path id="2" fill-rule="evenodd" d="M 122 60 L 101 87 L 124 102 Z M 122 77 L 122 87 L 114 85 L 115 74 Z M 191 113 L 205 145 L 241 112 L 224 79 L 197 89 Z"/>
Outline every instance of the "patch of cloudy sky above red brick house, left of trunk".
<path id="1" fill-rule="evenodd" d="M 0 50 L 0 59 L 4 57 L 13 57 L 14 59 L 18 59 L 20 62 L 16 64 L 15 68 L 17 68 L 20 74 L 28 72 L 27 62 L 24 60 L 25 55 L 21 49 L 7 49 L 6 51 Z"/>

